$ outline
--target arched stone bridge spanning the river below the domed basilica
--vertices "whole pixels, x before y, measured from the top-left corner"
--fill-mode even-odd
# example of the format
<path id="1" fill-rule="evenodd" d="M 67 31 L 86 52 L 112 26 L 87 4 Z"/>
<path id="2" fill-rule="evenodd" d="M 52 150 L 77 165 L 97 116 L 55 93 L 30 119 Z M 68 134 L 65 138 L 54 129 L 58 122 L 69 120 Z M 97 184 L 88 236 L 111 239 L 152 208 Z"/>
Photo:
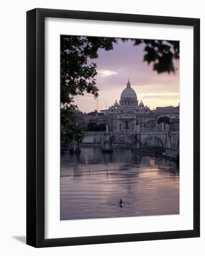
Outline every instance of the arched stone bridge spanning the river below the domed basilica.
<path id="1" fill-rule="evenodd" d="M 168 129 L 158 130 L 156 127 L 141 128 L 140 131 L 87 132 L 83 143 L 86 143 L 86 139 L 89 141 L 89 137 L 96 137 L 101 142 L 102 152 L 112 152 L 113 143 L 122 137 L 127 138 L 134 149 L 143 148 L 151 138 L 157 138 L 163 148 L 179 149 L 179 132 L 169 131 Z"/>

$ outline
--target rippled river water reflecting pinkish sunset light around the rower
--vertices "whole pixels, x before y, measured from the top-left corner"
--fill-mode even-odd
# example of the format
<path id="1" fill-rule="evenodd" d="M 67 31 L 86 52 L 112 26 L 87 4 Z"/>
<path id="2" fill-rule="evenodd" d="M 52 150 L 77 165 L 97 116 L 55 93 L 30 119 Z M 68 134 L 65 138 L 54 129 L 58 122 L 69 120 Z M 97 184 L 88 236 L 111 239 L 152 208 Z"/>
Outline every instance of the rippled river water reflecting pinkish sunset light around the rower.
<path id="1" fill-rule="evenodd" d="M 112 205 L 122 198 L 124 208 Z M 61 155 L 61 220 L 179 214 L 179 167 L 129 149 Z"/>

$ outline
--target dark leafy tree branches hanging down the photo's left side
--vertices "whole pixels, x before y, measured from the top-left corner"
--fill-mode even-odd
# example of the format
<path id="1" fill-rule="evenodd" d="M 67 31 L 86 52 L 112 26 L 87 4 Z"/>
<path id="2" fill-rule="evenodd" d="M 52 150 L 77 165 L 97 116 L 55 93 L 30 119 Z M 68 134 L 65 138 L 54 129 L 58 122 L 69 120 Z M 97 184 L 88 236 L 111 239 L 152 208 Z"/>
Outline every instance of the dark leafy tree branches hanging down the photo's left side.
<path id="1" fill-rule="evenodd" d="M 61 36 L 60 90 L 61 90 L 61 142 L 70 144 L 83 138 L 83 128 L 77 125 L 73 97 L 84 92 L 98 96 L 95 76 L 99 48 L 113 49 L 115 38 Z"/>

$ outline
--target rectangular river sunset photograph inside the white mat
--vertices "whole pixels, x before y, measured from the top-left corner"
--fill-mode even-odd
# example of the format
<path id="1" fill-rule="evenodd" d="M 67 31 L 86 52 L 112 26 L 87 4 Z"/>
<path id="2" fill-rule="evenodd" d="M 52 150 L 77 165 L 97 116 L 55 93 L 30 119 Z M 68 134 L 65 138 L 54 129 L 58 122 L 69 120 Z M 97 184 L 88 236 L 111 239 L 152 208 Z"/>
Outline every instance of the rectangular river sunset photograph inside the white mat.
<path id="1" fill-rule="evenodd" d="M 59 50 L 60 220 L 179 215 L 179 41 Z"/>

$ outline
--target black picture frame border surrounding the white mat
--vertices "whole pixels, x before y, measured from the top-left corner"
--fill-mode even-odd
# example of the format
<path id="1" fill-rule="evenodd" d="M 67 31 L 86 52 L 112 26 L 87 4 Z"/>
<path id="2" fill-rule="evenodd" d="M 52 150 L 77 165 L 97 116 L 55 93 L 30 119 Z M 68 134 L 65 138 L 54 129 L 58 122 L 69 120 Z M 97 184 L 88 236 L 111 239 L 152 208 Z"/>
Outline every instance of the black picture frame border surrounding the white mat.
<path id="1" fill-rule="evenodd" d="M 193 229 L 45 239 L 45 17 L 193 27 Z M 26 13 L 26 243 L 33 247 L 119 243 L 200 236 L 200 20 L 193 18 L 33 9 Z"/>

